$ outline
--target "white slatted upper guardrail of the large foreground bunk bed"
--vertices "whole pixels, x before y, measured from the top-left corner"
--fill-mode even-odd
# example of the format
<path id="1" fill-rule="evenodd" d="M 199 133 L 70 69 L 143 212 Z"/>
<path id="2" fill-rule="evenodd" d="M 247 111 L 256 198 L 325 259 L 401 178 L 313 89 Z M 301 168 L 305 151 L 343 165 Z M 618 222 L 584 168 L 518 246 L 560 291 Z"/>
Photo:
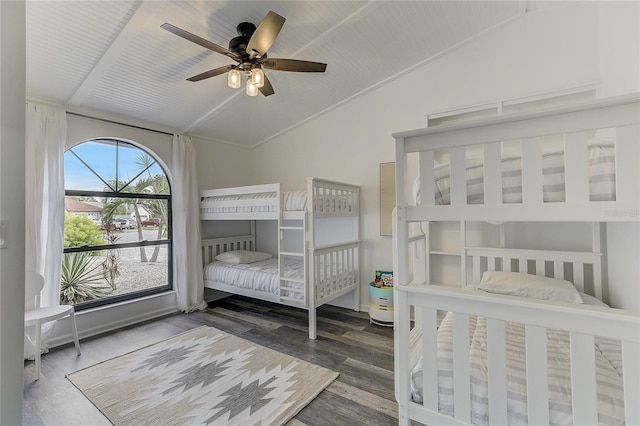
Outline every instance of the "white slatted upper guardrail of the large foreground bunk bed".
<path id="1" fill-rule="evenodd" d="M 459 124 L 396 133 L 396 158 L 418 153 L 420 204 L 409 202 L 405 187 L 397 193 L 398 214 L 408 221 L 474 220 L 527 221 L 532 211 L 539 220 L 629 221 L 640 219 L 640 108 L 638 97 L 600 101 L 559 112 L 539 112 L 488 120 L 481 124 Z M 588 171 L 588 135 L 591 130 L 615 131 L 615 193 L 612 201 L 592 202 Z M 544 202 L 542 167 L 545 137 L 564 139 L 564 202 Z M 503 201 L 502 143 L 520 141 L 522 158 L 522 202 Z M 484 163 L 484 203 L 468 204 L 465 179 L 466 152 L 482 150 Z M 448 150 L 450 156 L 450 198 L 448 205 L 435 203 L 435 151 Z M 407 182 L 405 162 L 397 162 L 396 175 Z M 400 188 L 399 188 L 400 189 Z M 567 208 L 571 206 L 572 208 Z"/>

